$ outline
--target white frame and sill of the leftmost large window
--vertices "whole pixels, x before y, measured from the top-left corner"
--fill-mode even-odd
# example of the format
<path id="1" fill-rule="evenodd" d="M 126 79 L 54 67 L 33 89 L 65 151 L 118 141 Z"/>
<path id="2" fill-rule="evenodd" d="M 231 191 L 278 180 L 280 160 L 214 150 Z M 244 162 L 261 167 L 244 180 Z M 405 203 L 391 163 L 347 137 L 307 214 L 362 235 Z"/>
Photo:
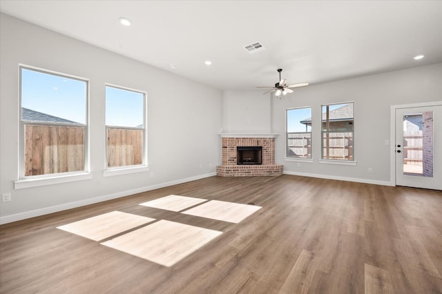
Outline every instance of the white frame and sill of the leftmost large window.
<path id="1" fill-rule="evenodd" d="M 21 72 L 22 69 L 33 70 L 37 72 L 42 72 L 46 75 L 56 75 L 59 77 L 66 77 L 68 79 L 76 79 L 78 81 L 83 81 L 86 83 L 86 124 L 77 124 L 77 126 L 84 126 L 84 170 L 79 170 L 75 172 L 66 173 L 51 173 L 46 175 L 30 175 L 25 176 L 25 124 L 28 125 L 49 125 L 49 126 L 71 126 L 71 124 L 64 123 L 45 123 L 41 121 L 23 121 L 22 120 L 22 110 L 21 110 Z M 59 184 L 66 182 L 74 182 L 84 179 L 91 179 L 90 174 L 90 147 L 89 147 L 89 96 L 90 96 L 90 80 L 84 77 L 77 77 L 74 75 L 68 75 L 63 72 L 56 72 L 53 70 L 47 70 L 45 68 L 37 68 L 35 66 L 28 66 L 26 64 L 19 63 L 18 65 L 19 74 L 19 169 L 17 175 L 17 181 L 15 181 L 15 189 L 20 188 L 30 188 L 35 186 L 46 186 L 51 184 Z"/>

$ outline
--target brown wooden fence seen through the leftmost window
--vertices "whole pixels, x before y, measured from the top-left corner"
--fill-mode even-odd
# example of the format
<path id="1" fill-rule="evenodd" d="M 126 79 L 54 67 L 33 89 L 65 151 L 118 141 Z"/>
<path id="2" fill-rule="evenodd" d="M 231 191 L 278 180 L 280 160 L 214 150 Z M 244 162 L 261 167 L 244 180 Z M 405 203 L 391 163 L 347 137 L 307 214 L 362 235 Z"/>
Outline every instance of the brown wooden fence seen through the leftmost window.
<path id="1" fill-rule="evenodd" d="M 25 175 L 84 170 L 84 126 L 25 125 Z"/>

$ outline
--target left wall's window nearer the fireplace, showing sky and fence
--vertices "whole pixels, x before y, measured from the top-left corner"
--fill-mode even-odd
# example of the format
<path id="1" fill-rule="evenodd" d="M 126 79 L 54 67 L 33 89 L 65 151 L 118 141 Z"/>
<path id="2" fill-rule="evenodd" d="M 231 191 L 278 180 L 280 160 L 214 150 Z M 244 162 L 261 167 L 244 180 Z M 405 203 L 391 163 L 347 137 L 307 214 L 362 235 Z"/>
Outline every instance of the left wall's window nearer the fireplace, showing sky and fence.
<path id="1" fill-rule="evenodd" d="M 146 165 L 146 95 L 106 85 L 107 168 Z"/>

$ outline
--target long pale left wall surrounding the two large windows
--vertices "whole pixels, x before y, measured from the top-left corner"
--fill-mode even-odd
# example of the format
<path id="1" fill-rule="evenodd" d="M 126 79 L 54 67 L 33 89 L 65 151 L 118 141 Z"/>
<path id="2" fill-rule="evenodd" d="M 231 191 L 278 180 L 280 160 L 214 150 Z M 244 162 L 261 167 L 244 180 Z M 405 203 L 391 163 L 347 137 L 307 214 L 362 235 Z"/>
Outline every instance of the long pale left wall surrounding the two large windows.
<path id="1" fill-rule="evenodd" d="M 0 192 L 12 194 L 12 202 L 1 203 L 0 222 L 215 173 L 221 161 L 222 91 L 6 14 L 0 19 Z M 90 79 L 92 179 L 14 189 L 19 162 L 19 63 Z M 164 81 L 171 86 L 164 88 Z M 150 172 L 103 177 L 105 83 L 147 92 Z"/>

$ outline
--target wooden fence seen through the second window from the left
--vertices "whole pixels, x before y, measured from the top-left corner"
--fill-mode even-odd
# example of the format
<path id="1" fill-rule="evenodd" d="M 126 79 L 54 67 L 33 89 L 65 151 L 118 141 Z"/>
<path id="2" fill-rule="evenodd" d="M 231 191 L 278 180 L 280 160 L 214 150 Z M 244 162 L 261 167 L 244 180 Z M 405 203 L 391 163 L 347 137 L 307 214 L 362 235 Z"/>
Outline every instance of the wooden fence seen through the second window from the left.
<path id="1" fill-rule="evenodd" d="M 107 128 L 108 167 L 143 163 L 143 130 Z"/>

